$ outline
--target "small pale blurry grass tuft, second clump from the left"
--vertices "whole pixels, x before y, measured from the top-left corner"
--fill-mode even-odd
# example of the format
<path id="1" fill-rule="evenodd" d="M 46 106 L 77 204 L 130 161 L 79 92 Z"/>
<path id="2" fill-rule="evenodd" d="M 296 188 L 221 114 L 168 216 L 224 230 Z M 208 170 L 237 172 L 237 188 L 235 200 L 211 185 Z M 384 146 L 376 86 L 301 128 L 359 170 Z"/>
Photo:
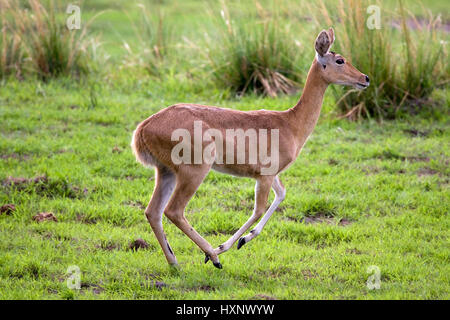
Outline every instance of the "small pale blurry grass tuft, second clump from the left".
<path id="1" fill-rule="evenodd" d="M 149 75 L 160 77 L 168 65 L 171 50 L 173 50 L 173 29 L 165 20 L 164 14 L 158 10 L 150 12 L 144 4 L 138 4 L 141 19 L 138 24 L 132 24 L 138 45 L 135 52 L 127 42 L 124 47 L 128 53 L 126 64 L 143 67 Z"/>

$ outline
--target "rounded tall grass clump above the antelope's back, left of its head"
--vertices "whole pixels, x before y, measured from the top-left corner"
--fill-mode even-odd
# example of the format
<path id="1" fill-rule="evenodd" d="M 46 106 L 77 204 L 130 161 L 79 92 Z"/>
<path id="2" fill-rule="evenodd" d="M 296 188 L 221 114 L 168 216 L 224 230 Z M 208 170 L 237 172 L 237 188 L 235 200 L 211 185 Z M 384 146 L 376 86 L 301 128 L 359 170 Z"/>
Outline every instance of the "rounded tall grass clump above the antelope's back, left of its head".
<path id="1" fill-rule="evenodd" d="M 302 47 L 276 9 L 255 4 L 256 12 L 250 16 L 231 17 L 224 3 L 220 18 L 210 14 L 218 32 L 208 34 L 206 43 L 214 80 L 238 95 L 292 93 L 302 80 Z"/>

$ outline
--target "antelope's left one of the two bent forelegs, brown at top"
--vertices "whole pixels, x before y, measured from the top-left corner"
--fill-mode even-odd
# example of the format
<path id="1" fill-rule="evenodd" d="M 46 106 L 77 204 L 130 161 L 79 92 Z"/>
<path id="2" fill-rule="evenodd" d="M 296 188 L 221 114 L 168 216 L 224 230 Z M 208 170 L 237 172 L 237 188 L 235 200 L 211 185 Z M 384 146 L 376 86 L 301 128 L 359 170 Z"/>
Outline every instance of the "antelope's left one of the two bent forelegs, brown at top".
<path id="1" fill-rule="evenodd" d="M 264 210 L 266 209 L 267 199 L 269 198 L 270 187 L 273 181 L 273 176 L 262 176 L 256 180 L 255 208 L 253 210 L 253 214 L 230 239 L 215 249 L 216 254 L 221 254 L 228 251 L 233 244 L 262 216 Z"/>

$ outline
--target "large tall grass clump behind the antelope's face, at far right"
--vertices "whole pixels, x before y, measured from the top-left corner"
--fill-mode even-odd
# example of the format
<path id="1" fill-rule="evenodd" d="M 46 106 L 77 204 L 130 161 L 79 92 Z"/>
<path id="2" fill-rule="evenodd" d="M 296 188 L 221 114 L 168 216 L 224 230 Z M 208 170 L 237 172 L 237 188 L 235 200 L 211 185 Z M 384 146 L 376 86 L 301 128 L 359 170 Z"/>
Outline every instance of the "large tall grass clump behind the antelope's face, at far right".
<path id="1" fill-rule="evenodd" d="M 412 32 L 408 19 L 414 17 L 400 2 L 397 18 L 382 12 L 381 29 L 369 29 L 366 10 L 372 4 L 365 0 L 341 0 L 337 4 L 321 1 L 317 17 L 335 27 L 335 51 L 371 79 L 364 91 L 334 88 L 338 107 L 353 119 L 394 118 L 426 102 L 436 86 L 439 62 L 446 59 L 436 36 L 436 20 L 430 18 L 426 28 Z M 395 19 L 401 28 L 393 27 Z"/>

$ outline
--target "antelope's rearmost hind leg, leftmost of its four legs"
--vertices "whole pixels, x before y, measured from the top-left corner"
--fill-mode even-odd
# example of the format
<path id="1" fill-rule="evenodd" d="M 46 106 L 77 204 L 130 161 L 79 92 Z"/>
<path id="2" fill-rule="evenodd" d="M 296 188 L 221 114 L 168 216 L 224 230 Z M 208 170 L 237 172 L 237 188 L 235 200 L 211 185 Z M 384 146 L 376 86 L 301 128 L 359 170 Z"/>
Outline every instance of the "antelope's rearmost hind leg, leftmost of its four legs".
<path id="1" fill-rule="evenodd" d="M 174 187 L 175 174 L 170 172 L 167 168 L 156 168 L 155 190 L 153 191 L 152 198 L 145 209 L 147 220 L 150 222 L 156 239 L 158 239 L 164 255 L 166 256 L 167 262 L 170 265 L 177 265 L 178 262 L 164 233 L 162 214 L 164 207 L 167 205 L 167 202 L 172 195 Z"/>

